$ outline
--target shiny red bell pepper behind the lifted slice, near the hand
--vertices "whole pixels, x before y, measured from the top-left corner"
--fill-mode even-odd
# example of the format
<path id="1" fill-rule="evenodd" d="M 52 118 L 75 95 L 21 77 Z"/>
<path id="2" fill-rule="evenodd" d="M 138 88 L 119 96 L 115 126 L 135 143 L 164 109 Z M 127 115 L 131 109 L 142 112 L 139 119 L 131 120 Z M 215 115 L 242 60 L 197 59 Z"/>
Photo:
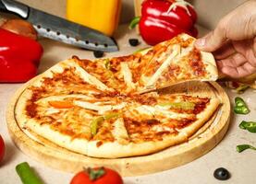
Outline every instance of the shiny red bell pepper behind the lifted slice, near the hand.
<path id="1" fill-rule="evenodd" d="M 141 5 L 141 17 L 135 18 L 130 27 L 139 22 L 142 39 L 155 45 L 183 32 L 197 37 L 196 20 L 193 6 L 184 0 L 145 0 Z"/>

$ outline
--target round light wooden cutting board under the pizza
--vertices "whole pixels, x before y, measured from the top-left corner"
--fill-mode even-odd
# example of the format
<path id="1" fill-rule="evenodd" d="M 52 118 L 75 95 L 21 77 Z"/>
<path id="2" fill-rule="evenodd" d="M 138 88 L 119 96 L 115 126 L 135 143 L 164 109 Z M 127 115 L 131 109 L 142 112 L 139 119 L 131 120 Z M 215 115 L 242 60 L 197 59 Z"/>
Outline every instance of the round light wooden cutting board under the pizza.
<path id="1" fill-rule="evenodd" d="M 16 104 L 20 95 L 32 83 L 22 86 L 12 98 L 6 113 L 10 136 L 26 155 L 44 165 L 68 172 L 78 172 L 83 167 L 111 167 L 122 176 L 139 176 L 178 167 L 208 153 L 224 137 L 230 114 L 230 102 L 224 89 L 215 82 L 189 82 L 163 89 L 164 93 L 211 94 L 220 98 L 222 105 L 210 121 L 193 135 L 188 142 L 169 147 L 152 155 L 105 159 L 79 155 L 58 145 L 21 130 L 15 117 Z M 17 112 L 18 113 L 18 112 Z"/>

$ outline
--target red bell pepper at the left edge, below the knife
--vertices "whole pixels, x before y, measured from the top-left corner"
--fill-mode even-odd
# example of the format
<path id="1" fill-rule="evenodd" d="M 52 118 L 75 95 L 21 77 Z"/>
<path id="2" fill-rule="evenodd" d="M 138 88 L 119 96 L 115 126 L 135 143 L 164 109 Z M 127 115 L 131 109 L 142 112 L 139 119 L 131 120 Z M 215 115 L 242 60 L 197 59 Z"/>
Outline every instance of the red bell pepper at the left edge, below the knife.
<path id="1" fill-rule="evenodd" d="M 26 82 L 37 74 L 43 47 L 30 38 L 0 29 L 0 82 Z"/>

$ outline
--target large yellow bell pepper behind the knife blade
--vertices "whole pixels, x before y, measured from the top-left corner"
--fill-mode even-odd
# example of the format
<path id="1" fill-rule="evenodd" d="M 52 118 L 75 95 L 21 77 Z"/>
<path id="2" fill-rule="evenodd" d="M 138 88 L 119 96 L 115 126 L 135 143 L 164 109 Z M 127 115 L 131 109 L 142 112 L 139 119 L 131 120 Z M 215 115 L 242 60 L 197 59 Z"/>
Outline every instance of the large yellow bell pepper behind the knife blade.
<path id="1" fill-rule="evenodd" d="M 121 0 L 67 0 L 67 19 L 112 36 L 120 8 Z"/>

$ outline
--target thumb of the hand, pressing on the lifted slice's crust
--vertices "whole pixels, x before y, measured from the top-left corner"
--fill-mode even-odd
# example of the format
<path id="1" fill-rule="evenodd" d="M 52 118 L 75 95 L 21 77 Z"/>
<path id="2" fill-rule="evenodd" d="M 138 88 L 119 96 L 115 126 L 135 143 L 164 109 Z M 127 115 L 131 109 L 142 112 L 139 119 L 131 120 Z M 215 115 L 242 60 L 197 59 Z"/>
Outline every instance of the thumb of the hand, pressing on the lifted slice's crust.
<path id="1" fill-rule="evenodd" d="M 196 40 L 195 47 L 204 52 L 214 52 L 226 42 L 226 29 L 220 24 L 203 38 Z"/>

